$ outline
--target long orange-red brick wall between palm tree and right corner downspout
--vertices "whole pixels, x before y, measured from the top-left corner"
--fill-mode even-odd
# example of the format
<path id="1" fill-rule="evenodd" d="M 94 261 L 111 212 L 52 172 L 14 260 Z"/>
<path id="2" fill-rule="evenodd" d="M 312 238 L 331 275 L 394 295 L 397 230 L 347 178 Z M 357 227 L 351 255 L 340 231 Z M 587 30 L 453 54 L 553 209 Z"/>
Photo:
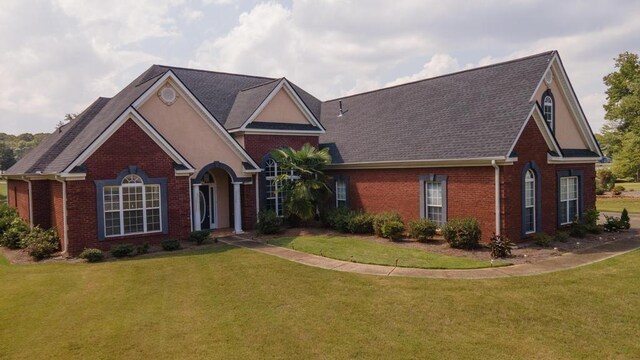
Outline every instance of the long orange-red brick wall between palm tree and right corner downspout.
<path id="1" fill-rule="evenodd" d="M 493 167 L 333 170 L 349 176 L 349 207 L 368 212 L 397 211 L 405 223 L 420 218 L 421 175 L 447 175 L 447 216 L 473 216 L 487 241 L 495 232 Z"/>

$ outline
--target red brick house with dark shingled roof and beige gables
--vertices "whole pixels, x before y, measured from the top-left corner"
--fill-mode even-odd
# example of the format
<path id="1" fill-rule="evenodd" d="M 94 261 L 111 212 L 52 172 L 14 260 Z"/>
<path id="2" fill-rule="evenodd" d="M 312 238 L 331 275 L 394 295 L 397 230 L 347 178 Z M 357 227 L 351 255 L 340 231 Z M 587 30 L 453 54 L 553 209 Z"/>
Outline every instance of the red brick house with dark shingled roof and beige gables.
<path id="1" fill-rule="evenodd" d="M 62 249 L 255 227 L 272 149 L 328 147 L 335 206 L 553 233 L 595 205 L 601 151 L 557 52 L 320 101 L 285 78 L 153 65 L 3 177 Z"/>

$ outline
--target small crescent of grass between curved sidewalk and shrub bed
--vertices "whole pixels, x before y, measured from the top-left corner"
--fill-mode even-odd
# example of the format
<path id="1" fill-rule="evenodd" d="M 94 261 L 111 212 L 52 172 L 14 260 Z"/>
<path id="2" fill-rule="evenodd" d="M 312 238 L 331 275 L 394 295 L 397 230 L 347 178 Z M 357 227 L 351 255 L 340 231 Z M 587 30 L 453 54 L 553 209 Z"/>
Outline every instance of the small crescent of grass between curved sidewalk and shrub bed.
<path id="1" fill-rule="evenodd" d="M 284 246 L 309 254 L 354 261 L 363 264 L 416 267 L 423 269 L 478 269 L 490 267 L 489 261 L 429 253 L 418 249 L 377 244 L 344 236 L 297 236 L 269 240 L 269 244 Z M 504 262 L 493 266 L 508 265 Z"/>

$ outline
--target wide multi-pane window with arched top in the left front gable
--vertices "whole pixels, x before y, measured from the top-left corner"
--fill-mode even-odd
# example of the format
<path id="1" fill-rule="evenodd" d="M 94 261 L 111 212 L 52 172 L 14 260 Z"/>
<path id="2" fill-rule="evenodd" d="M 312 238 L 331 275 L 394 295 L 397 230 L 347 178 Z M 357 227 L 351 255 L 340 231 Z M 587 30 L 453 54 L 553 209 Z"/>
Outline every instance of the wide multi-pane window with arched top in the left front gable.
<path id="1" fill-rule="evenodd" d="M 129 174 L 120 186 L 103 188 L 105 236 L 161 231 L 160 185 Z"/>

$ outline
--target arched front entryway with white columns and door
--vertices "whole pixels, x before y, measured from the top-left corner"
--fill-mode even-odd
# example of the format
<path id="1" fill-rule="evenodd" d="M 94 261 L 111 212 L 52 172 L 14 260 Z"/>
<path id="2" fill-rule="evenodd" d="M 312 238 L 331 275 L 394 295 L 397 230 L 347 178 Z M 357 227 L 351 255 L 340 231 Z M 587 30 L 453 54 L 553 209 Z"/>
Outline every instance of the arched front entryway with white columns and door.
<path id="1" fill-rule="evenodd" d="M 240 185 L 251 178 L 238 177 L 221 162 L 204 166 L 192 180 L 192 219 L 194 230 L 231 227 L 242 233 Z"/>

